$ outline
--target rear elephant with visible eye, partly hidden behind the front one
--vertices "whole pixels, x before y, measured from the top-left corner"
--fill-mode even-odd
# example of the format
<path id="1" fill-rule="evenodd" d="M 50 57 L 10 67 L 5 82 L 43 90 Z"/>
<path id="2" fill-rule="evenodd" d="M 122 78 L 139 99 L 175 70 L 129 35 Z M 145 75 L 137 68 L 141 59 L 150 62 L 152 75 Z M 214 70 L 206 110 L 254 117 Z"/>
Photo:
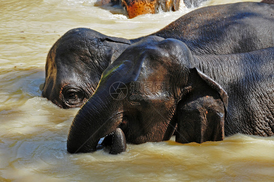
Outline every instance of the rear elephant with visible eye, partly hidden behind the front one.
<path id="1" fill-rule="evenodd" d="M 249 52 L 274 46 L 273 12 L 274 5 L 258 2 L 208 6 L 151 35 L 181 40 L 195 55 Z M 93 95 L 102 72 L 143 38 L 110 37 L 88 28 L 69 30 L 48 53 L 42 97 L 61 108 L 80 107 Z"/>

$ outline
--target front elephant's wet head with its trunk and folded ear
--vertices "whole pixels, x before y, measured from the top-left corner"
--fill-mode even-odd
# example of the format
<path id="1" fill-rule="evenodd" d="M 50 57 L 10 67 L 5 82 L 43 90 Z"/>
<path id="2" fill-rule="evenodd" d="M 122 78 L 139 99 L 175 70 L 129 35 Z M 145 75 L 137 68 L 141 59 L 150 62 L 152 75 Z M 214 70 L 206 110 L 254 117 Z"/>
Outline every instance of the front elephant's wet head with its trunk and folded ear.
<path id="1" fill-rule="evenodd" d="M 169 140 L 176 125 L 177 142 L 223 140 L 227 94 L 195 61 L 175 39 L 149 36 L 128 47 L 78 111 L 67 150 L 95 151 L 117 128 L 131 143 Z"/>

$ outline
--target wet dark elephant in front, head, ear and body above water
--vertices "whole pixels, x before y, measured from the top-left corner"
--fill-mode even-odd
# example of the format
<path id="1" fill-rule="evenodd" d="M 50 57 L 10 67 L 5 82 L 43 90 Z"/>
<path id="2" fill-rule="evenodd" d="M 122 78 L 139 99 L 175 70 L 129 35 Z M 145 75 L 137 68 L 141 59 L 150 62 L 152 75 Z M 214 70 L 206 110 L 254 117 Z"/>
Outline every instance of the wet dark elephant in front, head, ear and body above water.
<path id="1" fill-rule="evenodd" d="M 136 144 L 167 141 L 174 132 L 180 143 L 273 136 L 273 70 L 274 47 L 194 55 L 180 40 L 144 38 L 104 70 L 70 126 L 67 151 L 93 152 L 117 128 Z"/>

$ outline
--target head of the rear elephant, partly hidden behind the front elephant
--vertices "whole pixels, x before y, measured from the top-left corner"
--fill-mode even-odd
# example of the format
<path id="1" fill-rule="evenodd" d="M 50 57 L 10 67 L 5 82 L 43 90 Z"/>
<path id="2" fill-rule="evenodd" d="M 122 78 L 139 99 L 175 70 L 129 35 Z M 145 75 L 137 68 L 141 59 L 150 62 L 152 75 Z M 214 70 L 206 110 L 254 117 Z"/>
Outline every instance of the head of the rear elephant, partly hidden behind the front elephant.
<path id="1" fill-rule="evenodd" d="M 50 49 L 42 96 L 59 107 L 79 107 L 96 90 L 102 72 L 130 41 L 88 28 L 65 33 Z"/>

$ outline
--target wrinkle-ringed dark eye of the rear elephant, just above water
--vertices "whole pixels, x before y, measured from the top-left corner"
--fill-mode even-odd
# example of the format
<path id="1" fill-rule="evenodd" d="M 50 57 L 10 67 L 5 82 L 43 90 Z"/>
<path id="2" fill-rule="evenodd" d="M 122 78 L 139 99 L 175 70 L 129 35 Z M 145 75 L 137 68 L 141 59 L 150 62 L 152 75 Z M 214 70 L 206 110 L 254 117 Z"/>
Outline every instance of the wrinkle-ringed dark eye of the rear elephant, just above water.
<path id="1" fill-rule="evenodd" d="M 80 88 L 69 88 L 64 90 L 63 97 L 68 104 L 75 105 L 85 99 L 85 94 Z"/>

